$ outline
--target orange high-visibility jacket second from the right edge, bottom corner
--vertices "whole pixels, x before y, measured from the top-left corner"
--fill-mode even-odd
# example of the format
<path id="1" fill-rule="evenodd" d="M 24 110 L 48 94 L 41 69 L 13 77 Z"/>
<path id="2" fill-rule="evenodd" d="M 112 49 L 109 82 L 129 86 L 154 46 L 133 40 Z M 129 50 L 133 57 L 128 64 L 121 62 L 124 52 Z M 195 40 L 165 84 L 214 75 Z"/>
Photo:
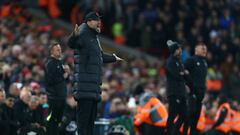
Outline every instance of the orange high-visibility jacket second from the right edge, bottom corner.
<path id="1" fill-rule="evenodd" d="M 215 117 L 215 121 L 218 120 L 218 118 L 220 117 L 220 113 L 221 113 L 221 110 L 223 108 L 226 108 L 227 109 L 227 116 L 226 118 L 224 119 L 223 123 L 220 124 L 219 126 L 216 127 L 217 130 L 219 131 L 222 131 L 224 133 L 228 133 L 230 130 L 231 130 L 231 126 L 232 126 L 232 116 L 233 116 L 233 111 L 232 109 L 230 108 L 230 105 L 229 103 L 223 103 L 219 108 L 218 108 L 218 111 L 217 111 L 217 115 Z"/>

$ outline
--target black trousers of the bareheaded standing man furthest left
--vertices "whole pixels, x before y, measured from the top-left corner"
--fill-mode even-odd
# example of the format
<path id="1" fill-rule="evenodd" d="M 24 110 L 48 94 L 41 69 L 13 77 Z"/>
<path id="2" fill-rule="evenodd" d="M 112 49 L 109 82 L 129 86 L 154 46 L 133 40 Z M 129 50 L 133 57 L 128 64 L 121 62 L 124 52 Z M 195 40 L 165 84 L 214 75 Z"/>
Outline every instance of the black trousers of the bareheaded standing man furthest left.
<path id="1" fill-rule="evenodd" d="M 47 117 L 47 135 L 59 135 L 63 111 L 65 109 L 65 99 L 49 99 L 49 110 Z"/>

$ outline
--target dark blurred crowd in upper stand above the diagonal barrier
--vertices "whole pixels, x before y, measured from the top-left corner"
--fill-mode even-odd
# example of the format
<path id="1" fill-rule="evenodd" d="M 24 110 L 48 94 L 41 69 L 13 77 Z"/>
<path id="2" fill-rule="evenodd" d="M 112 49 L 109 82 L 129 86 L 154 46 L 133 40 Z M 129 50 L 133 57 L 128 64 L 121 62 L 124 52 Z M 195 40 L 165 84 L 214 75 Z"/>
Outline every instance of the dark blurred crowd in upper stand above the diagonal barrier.
<path id="1" fill-rule="evenodd" d="M 183 45 L 182 60 L 198 42 L 208 47 L 208 88 L 239 94 L 240 33 L 237 0 L 81 0 L 58 1 L 59 16 L 72 24 L 84 22 L 89 11 L 102 15 L 103 35 L 165 61 L 166 41 Z M 223 84 L 221 82 L 224 82 Z"/>

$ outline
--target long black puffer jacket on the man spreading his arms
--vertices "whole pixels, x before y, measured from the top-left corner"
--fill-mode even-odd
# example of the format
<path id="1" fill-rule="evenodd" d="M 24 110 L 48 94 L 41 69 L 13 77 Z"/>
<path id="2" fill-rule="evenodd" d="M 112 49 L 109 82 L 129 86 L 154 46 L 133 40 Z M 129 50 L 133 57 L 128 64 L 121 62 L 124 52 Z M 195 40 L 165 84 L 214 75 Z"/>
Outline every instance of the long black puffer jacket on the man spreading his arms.
<path id="1" fill-rule="evenodd" d="M 80 35 L 70 35 L 68 45 L 74 49 L 74 98 L 100 100 L 102 64 L 115 62 L 113 55 L 103 53 L 97 32 L 86 23 L 80 26 Z"/>

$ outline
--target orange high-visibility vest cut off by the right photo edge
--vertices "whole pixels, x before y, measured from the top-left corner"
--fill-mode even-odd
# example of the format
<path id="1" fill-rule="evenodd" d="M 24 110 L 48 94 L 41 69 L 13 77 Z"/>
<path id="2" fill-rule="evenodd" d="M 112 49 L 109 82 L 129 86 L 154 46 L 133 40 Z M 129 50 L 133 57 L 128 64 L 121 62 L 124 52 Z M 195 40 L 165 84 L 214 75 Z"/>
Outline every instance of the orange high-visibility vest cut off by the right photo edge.
<path id="1" fill-rule="evenodd" d="M 240 112 L 233 110 L 231 130 L 240 133 Z"/>

